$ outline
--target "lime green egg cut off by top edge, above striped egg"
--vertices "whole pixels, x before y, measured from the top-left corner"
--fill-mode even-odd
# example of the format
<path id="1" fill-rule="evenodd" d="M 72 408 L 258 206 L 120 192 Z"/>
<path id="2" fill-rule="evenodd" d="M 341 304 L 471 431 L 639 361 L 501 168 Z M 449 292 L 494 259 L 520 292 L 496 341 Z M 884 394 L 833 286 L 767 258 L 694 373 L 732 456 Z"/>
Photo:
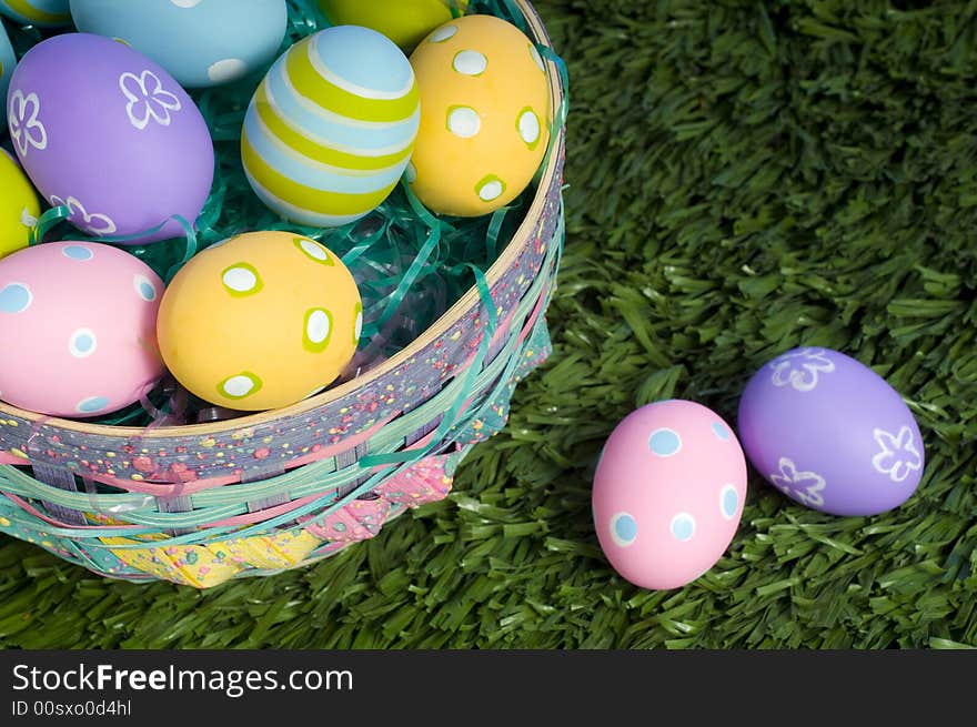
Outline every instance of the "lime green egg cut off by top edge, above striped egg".
<path id="1" fill-rule="evenodd" d="M 333 26 L 372 28 L 406 52 L 432 30 L 463 14 L 467 4 L 467 0 L 319 0 Z"/>

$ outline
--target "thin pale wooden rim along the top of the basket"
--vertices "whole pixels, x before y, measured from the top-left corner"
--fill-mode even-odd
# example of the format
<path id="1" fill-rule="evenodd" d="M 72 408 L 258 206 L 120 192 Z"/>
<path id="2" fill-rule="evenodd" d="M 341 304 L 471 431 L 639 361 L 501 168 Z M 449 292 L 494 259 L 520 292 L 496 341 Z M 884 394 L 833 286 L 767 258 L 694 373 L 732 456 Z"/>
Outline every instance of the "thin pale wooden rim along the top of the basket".
<path id="1" fill-rule="evenodd" d="M 533 6 L 530 3 L 530 0 L 514 0 L 515 4 L 518 7 L 520 11 L 523 13 L 523 18 L 526 20 L 530 30 L 537 43 L 542 43 L 548 48 L 552 48 L 552 42 L 550 41 L 550 37 L 546 33 L 546 28 L 543 24 L 542 19 L 538 13 L 535 11 Z M 563 85 L 556 70 L 556 67 L 552 61 L 546 61 L 546 75 L 550 79 L 550 98 L 552 103 L 553 112 L 556 110 L 563 102 Z M 566 129 L 560 129 L 556 140 L 554 141 L 554 150 L 562 150 L 564 140 L 565 140 Z M 527 239 L 531 236 L 533 232 L 533 228 L 537 224 L 538 219 L 542 216 L 543 208 L 546 203 L 546 196 L 550 188 L 553 185 L 553 181 L 556 176 L 556 172 L 560 165 L 560 153 L 553 153 L 550 155 L 546 168 L 543 170 L 543 174 L 540 179 L 540 183 L 536 188 L 536 193 L 533 196 L 533 201 L 530 204 L 528 210 L 526 211 L 525 218 L 523 219 L 520 226 L 513 233 L 513 241 L 520 239 Z M 485 273 L 486 282 L 488 283 L 490 289 L 502 277 L 504 272 L 510 267 L 510 265 L 515 262 L 516 258 L 521 253 L 521 246 L 512 244 L 507 244 L 505 250 L 502 251 L 502 254 L 495 260 L 494 263 L 488 267 Z M 310 412 L 314 408 L 319 408 L 324 404 L 329 404 L 334 402 L 348 394 L 351 394 L 359 390 L 360 387 L 367 385 L 381 376 L 390 373 L 391 371 L 397 368 L 412 356 L 415 356 L 420 353 L 425 346 L 433 343 L 436 339 L 440 339 L 447 330 L 454 325 L 457 321 L 460 321 L 467 312 L 471 310 L 472 305 L 480 302 L 479 291 L 473 285 L 470 287 L 457 302 L 454 303 L 447 311 L 445 311 L 431 326 L 429 326 L 420 336 L 414 339 L 409 345 L 404 349 L 395 353 L 393 356 L 384 361 L 382 364 L 376 366 L 375 368 L 371 368 L 369 372 L 364 373 L 362 376 L 357 376 L 355 378 L 351 378 L 350 381 L 343 382 L 342 384 L 328 388 L 326 391 L 316 394 L 315 396 L 310 396 L 309 398 L 304 398 L 301 402 L 292 404 L 291 406 L 285 406 L 282 408 L 273 408 L 266 410 L 263 412 L 254 412 L 251 414 L 245 414 L 243 416 L 239 416 L 232 420 L 222 420 L 218 422 L 205 422 L 202 424 L 180 424 L 180 425 L 170 425 L 170 426 L 150 426 L 150 427 L 139 427 L 139 426 L 114 426 L 110 424 L 91 424 L 83 420 L 68 420 L 61 418 L 57 416 L 47 416 L 44 414 L 39 414 L 37 412 L 30 412 L 28 410 L 22 410 L 6 402 L 0 401 L 0 413 L 6 415 L 12 415 L 20 417 L 21 420 L 26 420 L 27 422 L 31 422 L 36 425 L 41 424 L 44 426 L 54 426 L 60 430 L 71 431 L 71 432 L 81 432 L 84 434 L 91 435 L 101 435 L 109 437 L 141 437 L 144 440 L 151 438 L 163 438 L 163 437 L 172 437 L 172 436 L 181 436 L 181 435 L 212 435 L 212 434 L 223 434 L 225 432 L 239 430 L 242 427 L 255 427 L 261 426 L 262 424 L 266 424 L 273 422 L 275 420 L 289 416 L 298 416 Z"/>

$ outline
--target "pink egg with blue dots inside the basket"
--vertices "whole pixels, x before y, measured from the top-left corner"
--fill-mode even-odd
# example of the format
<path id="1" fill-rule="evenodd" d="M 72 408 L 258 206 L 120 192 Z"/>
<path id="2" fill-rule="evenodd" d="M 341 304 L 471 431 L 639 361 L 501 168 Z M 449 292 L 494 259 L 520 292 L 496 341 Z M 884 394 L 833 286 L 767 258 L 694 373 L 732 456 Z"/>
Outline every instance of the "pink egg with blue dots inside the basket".
<path id="1" fill-rule="evenodd" d="M 138 258 L 49 242 L 0 260 L 0 398 L 52 416 L 123 408 L 163 374 L 155 323 L 163 283 Z"/>

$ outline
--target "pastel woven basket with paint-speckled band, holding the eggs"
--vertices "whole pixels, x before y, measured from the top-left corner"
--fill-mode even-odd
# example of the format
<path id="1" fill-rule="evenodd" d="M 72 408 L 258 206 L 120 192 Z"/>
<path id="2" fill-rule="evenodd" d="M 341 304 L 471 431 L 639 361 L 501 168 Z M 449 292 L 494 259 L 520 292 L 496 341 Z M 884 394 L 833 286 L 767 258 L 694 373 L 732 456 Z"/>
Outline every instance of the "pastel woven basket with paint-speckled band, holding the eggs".
<path id="1" fill-rule="evenodd" d="M 548 46 L 531 4 L 510 4 Z M 207 588 L 319 561 L 444 497 L 550 352 L 563 159 L 561 128 L 525 219 L 477 284 L 410 346 L 318 396 L 148 430 L 0 404 L 0 532 L 108 577 Z"/>

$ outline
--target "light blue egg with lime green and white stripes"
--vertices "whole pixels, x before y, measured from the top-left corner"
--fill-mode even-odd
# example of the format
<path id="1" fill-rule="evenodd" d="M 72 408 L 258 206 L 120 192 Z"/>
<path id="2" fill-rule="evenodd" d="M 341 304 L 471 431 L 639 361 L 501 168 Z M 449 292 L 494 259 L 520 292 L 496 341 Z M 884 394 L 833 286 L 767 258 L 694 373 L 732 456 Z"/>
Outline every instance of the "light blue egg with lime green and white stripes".
<path id="1" fill-rule="evenodd" d="M 271 67 L 244 117 L 241 156 L 283 218 L 332 228 L 381 204 L 407 165 L 420 112 L 414 72 L 367 28 L 326 28 Z"/>

